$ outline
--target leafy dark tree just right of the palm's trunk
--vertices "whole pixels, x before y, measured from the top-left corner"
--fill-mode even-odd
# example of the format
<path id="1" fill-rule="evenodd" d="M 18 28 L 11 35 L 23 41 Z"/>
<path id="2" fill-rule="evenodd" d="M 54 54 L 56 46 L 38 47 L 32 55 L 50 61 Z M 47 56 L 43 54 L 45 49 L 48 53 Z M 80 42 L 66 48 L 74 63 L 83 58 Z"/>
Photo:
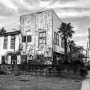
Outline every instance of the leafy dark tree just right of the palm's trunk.
<path id="1" fill-rule="evenodd" d="M 69 61 L 82 61 L 84 55 L 82 53 L 83 47 L 77 46 L 73 40 L 68 41 L 70 51 L 68 52 Z"/>

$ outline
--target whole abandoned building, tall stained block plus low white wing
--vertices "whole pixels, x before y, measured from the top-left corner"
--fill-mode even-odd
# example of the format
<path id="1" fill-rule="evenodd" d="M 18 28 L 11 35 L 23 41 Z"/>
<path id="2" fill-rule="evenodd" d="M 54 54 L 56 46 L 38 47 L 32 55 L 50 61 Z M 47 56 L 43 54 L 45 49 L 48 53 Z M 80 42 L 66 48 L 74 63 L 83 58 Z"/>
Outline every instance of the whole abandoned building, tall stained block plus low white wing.
<path id="1" fill-rule="evenodd" d="M 21 64 L 37 55 L 43 56 L 46 64 L 57 63 L 64 55 L 60 25 L 53 10 L 20 16 L 18 31 L 0 33 L 0 64 Z"/>

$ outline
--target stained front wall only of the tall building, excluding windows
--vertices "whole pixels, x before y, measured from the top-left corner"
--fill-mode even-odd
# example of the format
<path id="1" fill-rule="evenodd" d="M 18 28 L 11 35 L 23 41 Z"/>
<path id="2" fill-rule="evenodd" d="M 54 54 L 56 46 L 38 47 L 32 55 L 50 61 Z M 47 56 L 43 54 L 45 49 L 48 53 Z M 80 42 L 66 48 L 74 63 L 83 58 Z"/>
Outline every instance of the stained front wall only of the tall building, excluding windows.
<path id="1" fill-rule="evenodd" d="M 22 35 L 31 35 L 32 41 L 22 43 L 22 54 L 52 55 L 52 12 L 45 11 L 21 16 Z M 46 31 L 46 44 L 39 46 L 39 32 Z"/>

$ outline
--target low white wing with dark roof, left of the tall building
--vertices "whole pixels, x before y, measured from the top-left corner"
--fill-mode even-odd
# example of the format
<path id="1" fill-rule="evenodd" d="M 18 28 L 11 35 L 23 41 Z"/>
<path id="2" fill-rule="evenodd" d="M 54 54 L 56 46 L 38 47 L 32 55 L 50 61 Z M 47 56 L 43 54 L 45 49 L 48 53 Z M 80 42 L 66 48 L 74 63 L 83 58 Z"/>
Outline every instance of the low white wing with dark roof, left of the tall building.
<path id="1" fill-rule="evenodd" d="M 0 33 L 0 64 L 20 64 L 20 31 Z"/>

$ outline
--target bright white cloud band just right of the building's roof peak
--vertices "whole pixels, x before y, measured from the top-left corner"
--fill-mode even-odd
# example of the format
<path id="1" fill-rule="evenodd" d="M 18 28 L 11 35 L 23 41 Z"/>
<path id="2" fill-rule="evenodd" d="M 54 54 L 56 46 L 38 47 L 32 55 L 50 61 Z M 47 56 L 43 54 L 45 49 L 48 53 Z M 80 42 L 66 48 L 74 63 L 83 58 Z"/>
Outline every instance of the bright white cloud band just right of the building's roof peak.
<path id="1" fill-rule="evenodd" d="M 54 10 L 60 18 L 90 17 L 90 8 L 56 8 Z"/>

